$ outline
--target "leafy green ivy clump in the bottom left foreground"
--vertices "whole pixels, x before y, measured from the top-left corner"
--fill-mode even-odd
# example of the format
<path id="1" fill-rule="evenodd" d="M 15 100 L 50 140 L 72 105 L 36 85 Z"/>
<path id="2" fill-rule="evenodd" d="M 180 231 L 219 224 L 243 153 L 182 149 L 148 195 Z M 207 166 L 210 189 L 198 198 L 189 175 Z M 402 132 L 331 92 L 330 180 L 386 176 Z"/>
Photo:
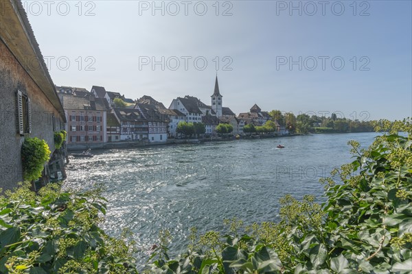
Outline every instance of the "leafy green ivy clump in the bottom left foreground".
<path id="1" fill-rule="evenodd" d="M 124 240 L 98 224 L 100 190 L 70 193 L 29 184 L 0 197 L 0 273 L 137 273 Z"/>

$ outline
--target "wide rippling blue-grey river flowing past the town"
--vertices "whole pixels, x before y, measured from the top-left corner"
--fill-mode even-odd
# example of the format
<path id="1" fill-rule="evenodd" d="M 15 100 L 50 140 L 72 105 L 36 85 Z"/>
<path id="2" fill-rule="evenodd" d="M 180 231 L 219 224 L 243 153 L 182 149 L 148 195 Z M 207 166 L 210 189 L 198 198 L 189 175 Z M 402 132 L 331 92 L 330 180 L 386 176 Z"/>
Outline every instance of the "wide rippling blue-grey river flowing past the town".
<path id="1" fill-rule="evenodd" d="M 190 227 L 223 230 L 223 219 L 233 217 L 245 225 L 276 221 L 279 198 L 286 194 L 314 195 L 321 203 L 319 178 L 353 161 L 347 141 L 367 147 L 374 136 L 314 134 L 96 150 L 93 158 L 71 159 L 65 186 L 104 184 L 108 210 L 103 228 L 118 235 L 128 227 L 142 260 L 160 229 L 171 232 L 171 250 L 181 252 Z M 279 144 L 285 148 L 277 149 Z"/>

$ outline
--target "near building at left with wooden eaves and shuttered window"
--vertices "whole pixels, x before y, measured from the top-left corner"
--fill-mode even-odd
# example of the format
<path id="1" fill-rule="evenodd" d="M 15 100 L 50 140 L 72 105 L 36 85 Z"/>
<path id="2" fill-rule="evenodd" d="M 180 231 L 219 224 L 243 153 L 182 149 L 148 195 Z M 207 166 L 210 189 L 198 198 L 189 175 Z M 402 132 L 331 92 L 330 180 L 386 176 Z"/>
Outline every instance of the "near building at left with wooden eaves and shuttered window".
<path id="1" fill-rule="evenodd" d="M 0 174 L 1 188 L 23 181 L 25 138 L 45 140 L 52 151 L 34 190 L 65 177 L 64 151 L 54 132 L 64 129 L 64 110 L 21 1 L 1 1 L 0 12 Z M 50 172 L 52 171 L 52 173 Z"/>

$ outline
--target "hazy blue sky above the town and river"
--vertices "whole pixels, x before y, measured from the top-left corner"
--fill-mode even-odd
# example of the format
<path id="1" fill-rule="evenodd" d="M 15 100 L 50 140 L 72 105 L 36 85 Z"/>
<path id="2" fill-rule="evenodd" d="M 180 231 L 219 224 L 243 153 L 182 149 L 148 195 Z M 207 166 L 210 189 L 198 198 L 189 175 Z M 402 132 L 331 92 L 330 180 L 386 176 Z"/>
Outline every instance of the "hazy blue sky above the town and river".
<path id="1" fill-rule="evenodd" d="M 412 116 L 412 1 L 23 1 L 58 86 L 166 107 Z"/>

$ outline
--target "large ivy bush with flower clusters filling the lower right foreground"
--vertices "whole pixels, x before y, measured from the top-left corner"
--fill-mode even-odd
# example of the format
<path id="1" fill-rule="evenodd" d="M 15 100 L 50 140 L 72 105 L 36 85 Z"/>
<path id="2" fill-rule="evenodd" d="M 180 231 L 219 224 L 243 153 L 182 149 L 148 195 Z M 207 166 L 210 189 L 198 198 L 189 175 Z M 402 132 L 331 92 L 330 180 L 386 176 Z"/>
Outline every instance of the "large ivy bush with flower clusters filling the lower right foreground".
<path id="1" fill-rule="evenodd" d="M 338 119 L 336 119 L 338 121 Z M 314 197 L 280 200 L 278 223 L 242 228 L 232 219 L 230 234 L 192 229 L 187 253 L 156 260 L 154 273 L 411 273 L 412 124 L 380 121 L 369 149 L 350 141 L 354 161 L 321 179 L 327 201 Z M 408 137 L 398 132 L 407 132 Z M 240 234 L 241 230 L 249 232 Z M 159 248 L 160 249 L 160 248 Z"/>

